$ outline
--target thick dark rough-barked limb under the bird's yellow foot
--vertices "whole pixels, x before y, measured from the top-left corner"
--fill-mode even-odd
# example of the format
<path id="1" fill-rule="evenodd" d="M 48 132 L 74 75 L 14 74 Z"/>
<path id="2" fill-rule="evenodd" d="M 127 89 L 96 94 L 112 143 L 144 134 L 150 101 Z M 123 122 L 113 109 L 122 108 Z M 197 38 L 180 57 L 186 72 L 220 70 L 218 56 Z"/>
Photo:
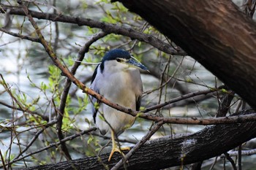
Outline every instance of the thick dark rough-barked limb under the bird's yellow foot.
<path id="1" fill-rule="evenodd" d="M 166 136 L 154 139 L 129 158 L 128 169 L 164 169 L 203 161 L 256 137 L 256 122 L 228 125 L 212 125 L 189 136 L 172 139 Z M 105 169 L 113 167 L 120 159 L 118 153 L 108 162 L 109 153 L 97 157 L 82 158 L 32 169 Z M 103 166 L 105 165 L 105 166 Z M 124 169 L 124 167 L 122 168 Z"/>

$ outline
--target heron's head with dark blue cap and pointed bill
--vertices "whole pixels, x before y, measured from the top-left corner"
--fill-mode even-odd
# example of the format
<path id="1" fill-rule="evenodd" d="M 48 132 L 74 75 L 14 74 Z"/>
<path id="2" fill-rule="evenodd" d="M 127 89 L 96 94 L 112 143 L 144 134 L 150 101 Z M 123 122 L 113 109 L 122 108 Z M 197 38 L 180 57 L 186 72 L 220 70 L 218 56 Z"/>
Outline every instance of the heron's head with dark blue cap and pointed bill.
<path id="1" fill-rule="evenodd" d="M 146 66 L 132 57 L 132 55 L 130 55 L 126 50 L 122 49 L 114 49 L 106 53 L 102 58 L 102 63 L 100 64 L 101 71 L 103 71 L 105 66 L 112 67 L 112 69 L 116 67 L 116 69 L 138 68 L 148 70 Z"/>

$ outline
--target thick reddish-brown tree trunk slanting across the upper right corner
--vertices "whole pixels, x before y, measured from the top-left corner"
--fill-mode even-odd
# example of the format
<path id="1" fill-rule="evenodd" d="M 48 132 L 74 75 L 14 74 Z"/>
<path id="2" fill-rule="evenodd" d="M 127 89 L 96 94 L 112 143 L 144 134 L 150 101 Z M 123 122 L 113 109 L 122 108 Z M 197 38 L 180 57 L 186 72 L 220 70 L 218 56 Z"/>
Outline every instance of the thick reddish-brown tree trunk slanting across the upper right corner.
<path id="1" fill-rule="evenodd" d="M 232 1 L 120 1 L 256 107 L 256 24 Z"/>

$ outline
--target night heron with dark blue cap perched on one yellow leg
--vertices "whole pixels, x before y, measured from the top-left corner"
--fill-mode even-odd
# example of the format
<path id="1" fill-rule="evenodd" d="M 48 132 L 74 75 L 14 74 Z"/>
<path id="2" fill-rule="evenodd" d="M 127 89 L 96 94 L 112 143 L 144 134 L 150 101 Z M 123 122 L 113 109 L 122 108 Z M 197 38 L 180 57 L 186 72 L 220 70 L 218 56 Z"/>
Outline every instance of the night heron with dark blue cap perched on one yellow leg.
<path id="1" fill-rule="evenodd" d="M 140 71 L 146 66 L 134 58 L 127 50 L 113 49 L 104 55 L 92 75 L 90 88 L 109 101 L 129 109 L 139 111 L 143 83 Z M 135 122 L 135 117 L 100 103 L 96 98 L 90 98 L 94 123 L 102 135 L 111 134 L 112 150 L 108 161 L 114 152 L 120 152 L 115 137 L 122 134 Z"/>

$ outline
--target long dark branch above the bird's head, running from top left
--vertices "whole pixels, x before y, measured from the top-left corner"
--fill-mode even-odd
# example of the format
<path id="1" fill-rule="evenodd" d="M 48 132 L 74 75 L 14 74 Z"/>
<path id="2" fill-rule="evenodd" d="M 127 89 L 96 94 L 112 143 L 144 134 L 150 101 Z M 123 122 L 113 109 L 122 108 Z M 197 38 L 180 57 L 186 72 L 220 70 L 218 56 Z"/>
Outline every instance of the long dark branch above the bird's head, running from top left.
<path id="1" fill-rule="evenodd" d="M 7 7 L 4 4 L 0 4 L 0 12 L 4 13 L 7 9 L 10 9 L 10 15 L 24 15 L 26 16 L 25 12 L 23 12 L 20 8 L 15 7 Z M 35 12 L 29 10 L 29 13 L 32 18 L 43 19 L 43 20 L 52 20 L 54 22 L 61 22 L 61 23 L 73 23 L 77 24 L 78 26 L 89 26 L 91 28 L 99 28 L 102 29 L 105 33 L 108 34 L 120 34 L 123 36 L 128 36 L 131 39 L 138 39 L 141 42 L 146 42 L 153 47 L 156 47 L 158 50 L 161 50 L 167 54 L 172 55 L 187 55 L 184 50 L 181 49 L 174 49 L 171 45 L 162 42 L 162 40 L 157 39 L 154 36 L 143 34 L 139 31 L 135 31 L 132 28 L 124 28 L 122 26 L 116 26 L 115 24 L 110 23 L 102 23 L 96 20 L 91 20 L 89 18 L 80 18 L 80 17 L 70 17 L 67 15 L 56 15 L 50 14 L 45 12 Z"/>

